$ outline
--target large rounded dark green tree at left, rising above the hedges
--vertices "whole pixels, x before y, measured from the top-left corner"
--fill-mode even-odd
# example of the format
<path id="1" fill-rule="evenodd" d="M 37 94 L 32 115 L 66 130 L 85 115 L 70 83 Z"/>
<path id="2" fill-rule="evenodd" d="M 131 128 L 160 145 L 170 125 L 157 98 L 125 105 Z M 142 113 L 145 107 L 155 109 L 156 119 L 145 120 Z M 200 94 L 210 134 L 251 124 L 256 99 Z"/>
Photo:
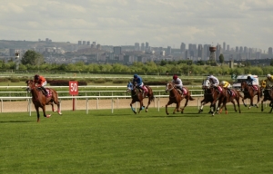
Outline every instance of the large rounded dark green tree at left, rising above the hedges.
<path id="1" fill-rule="evenodd" d="M 22 64 L 40 65 L 44 63 L 44 56 L 32 50 L 27 50 L 22 57 Z"/>

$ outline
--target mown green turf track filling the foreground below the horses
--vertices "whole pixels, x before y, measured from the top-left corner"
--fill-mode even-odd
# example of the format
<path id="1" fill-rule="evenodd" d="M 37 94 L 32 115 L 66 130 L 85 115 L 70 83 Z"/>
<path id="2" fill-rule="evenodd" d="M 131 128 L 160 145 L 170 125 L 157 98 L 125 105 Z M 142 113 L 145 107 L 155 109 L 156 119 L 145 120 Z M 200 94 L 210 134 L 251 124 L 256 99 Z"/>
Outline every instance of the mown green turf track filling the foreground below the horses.
<path id="1" fill-rule="evenodd" d="M 272 173 L 273 113 L 227 109 L 0 113 L 0 173 Z"/>

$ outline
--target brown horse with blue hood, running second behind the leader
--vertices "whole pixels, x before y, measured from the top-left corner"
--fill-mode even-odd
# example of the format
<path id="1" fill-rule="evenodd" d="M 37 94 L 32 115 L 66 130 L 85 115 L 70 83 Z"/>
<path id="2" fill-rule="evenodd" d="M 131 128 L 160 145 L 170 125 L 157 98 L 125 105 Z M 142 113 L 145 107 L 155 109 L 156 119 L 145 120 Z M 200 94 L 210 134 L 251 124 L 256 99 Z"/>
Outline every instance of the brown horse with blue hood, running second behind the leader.
<path id="1" fill-rule="evenodd" d="M 145 106 L 143 105 L 143 99 L 147 97 L 148 98 L 147 107 L 146 107 L 146 112 L 147 112 L 148 106 L 150 105 L 151 102 L 155 100 L 153 90 L 148 85 L 146 85 L 145 87 L 147 88 L 147 93 L 140 92 L 139 88 L 136 87 L 136 84 L 133 84 L 132 82 L 127 83 L 126 92 L 131 92 L 132 102 L 130 103 L 130 106 L 132 111 L 134 111 L 134 113 L 136 113 L 136 110 L 132 106 L 133 103 L 135 102 L 140 103 L 139 111 L 138 111 L 139 113 L 141 110 L 145 108 Z"/>

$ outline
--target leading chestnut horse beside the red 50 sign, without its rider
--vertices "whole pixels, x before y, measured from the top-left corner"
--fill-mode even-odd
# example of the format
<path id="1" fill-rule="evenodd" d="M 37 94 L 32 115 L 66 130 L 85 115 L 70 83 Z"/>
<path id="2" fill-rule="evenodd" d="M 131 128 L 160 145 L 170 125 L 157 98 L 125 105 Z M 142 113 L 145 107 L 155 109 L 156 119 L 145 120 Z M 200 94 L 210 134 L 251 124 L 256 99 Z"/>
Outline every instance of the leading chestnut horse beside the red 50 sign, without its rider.
<path id="1" fill-rule="evenodd" d="M 42 108 L 44 117 L 49 118 L 51 114 L 46 115 L 45 114 L 45 105 L 51 105 L 52 111 L 54 110 L 54 104 L 57 105 L 57 112 L 59 115 L 62 115 L 62 112 L 60 111 L 60 102 L 58 101 L 58 93 L 53 90 L 46 88 L 46 91 L 49 93 L 49 97 L 45 97 L 45 94 L 42 92 L 42 90 L 35 85 L 35 82 L 33 80 L 28 80 L 26 81 L 27 87 L 26 90 L 27 92 L 31 92 L 32 94 L 32 102 L 35 105 L 35 110 L 37 113 L 37 122 L 40 121 L 40 113 L 39 113 L 39 108 Z"/>

